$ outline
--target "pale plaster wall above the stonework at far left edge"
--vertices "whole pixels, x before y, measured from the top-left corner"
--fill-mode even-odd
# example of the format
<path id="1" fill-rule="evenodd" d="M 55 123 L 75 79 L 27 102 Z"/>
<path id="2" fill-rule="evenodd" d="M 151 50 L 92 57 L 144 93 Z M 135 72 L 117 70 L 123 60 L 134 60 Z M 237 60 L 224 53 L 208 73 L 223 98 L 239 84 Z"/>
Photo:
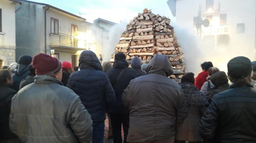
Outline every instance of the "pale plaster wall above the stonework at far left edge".
<path id="1" fill-rule="evenodd" d="M 0 45 L 15 46 L 15 5 L 11 1 L 1 0 L 2 32 L 0 32 Z"/>

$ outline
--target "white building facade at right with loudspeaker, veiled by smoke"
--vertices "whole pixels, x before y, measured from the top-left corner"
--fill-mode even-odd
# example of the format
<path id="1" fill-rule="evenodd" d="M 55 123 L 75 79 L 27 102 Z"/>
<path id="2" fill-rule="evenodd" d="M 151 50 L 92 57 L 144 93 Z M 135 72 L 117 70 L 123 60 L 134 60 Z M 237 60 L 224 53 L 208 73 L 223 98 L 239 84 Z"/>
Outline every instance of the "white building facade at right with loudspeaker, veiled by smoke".
<path id="1" fill-rule="evenodd" d="M 202 47 L 255 60 L 255 0 L 169 0 L 167 4 L 177 25 L 199 36 Z M 196 27 L 198 17 L 209 20 L 209 26 L 202 25 L 201 31 Z"/>

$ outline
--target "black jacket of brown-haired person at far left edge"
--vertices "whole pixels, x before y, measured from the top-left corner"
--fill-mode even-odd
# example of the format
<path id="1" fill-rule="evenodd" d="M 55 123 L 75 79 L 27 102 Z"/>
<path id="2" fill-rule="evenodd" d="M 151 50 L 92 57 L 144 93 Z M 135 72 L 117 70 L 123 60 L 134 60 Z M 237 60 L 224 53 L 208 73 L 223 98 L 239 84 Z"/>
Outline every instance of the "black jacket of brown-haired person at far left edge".
<path id="1" fill-rule="evenodd" d="M 0 142 L 1 139 L 17 137 L 9 127 L 12 97 L 17 93 L 7 85 L 0 85 Z"/>

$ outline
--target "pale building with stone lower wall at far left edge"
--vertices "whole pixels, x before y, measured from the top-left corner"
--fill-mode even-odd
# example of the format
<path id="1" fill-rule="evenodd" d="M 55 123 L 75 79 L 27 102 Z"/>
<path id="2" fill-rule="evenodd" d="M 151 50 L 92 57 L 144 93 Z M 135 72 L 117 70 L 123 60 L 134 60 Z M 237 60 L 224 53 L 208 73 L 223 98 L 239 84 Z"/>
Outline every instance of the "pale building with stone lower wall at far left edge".
<path id="1" fill-rule="evenodd" d="M 0 69 L 15 62 L 15 5 L 21 5 L 21 2 L 0 1 Z"/>

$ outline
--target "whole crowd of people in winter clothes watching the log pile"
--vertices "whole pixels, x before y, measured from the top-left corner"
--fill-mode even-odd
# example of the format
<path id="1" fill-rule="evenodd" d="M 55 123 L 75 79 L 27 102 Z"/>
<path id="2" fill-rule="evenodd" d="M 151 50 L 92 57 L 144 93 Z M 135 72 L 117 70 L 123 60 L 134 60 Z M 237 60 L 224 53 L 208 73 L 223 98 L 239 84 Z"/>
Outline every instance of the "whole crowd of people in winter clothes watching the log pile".
<path id="1" fill-rule="evenodd" d="M 83 51 L 76 67 L 23 55 L 0 70 L 0 142 L 103 143 L 106 113 L 114 143 L 256 142 L 256 61 L 201 68 L 178 84 L 166 55 L 130 67 L 123 53 L 101 65 Z"/>

